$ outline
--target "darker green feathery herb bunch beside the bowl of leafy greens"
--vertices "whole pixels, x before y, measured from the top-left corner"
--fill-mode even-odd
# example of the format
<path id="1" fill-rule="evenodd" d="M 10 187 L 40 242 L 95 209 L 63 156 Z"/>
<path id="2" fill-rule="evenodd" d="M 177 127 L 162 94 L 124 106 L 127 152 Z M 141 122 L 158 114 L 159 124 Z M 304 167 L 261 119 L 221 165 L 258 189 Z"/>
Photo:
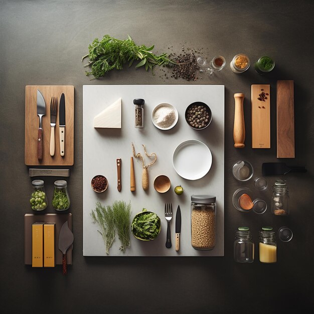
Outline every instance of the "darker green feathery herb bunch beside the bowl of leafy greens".
<path id="1" fill-rule="evenodd" d="M 121 241 L 120 250 L 125 251 L 126 247 L 130 247 L 130 216 L 131 204 L 122 201 L 115 201 L 112 204 L 114 225 Z"/>

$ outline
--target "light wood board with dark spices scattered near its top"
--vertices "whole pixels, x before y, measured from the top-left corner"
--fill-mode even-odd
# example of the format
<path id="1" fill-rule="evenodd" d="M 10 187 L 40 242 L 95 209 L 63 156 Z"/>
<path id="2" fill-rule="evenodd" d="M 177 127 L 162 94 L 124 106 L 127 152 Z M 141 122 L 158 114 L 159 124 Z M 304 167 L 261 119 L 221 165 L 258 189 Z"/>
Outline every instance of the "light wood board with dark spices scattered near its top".
<path id="1" fill-rule="evenodd" d="M 252 148 L 270 148 L 270 85 L 251 85 L 251 104 Z"/>

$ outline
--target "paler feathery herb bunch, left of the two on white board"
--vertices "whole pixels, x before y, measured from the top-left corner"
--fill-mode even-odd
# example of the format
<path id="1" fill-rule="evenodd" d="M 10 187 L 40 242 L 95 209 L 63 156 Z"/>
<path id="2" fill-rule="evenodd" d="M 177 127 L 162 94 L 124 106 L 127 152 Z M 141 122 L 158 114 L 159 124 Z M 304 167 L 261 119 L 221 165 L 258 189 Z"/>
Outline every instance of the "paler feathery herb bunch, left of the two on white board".
<path id="1" fill-rule="evenodd" d="M 95 211 L 92 210 L 91 217 L 94 222 L 96 222 L 101 231 L 97 230 L 103 238 L 105 243 L 106 253 L 109 254 L 109 249 L 112 246 L 113 240 L 115 238 L 115 226 L 114 217 L 111 206 L 104 207 L 99 202 L 96 203 Z"/>

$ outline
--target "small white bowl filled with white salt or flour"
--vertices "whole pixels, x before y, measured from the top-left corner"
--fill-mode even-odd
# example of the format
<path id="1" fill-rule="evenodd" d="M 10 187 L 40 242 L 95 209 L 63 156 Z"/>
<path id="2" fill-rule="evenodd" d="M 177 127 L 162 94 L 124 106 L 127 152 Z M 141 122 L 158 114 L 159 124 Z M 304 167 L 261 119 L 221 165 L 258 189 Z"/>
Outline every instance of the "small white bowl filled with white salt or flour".
<path id="1" fill-rule="evenodd" d="M 173 128 L 179 119 L 178 110 L 169 103 L 161 103 L 151 112 L 151 121 L 156 128 L 169 130 Z"/>

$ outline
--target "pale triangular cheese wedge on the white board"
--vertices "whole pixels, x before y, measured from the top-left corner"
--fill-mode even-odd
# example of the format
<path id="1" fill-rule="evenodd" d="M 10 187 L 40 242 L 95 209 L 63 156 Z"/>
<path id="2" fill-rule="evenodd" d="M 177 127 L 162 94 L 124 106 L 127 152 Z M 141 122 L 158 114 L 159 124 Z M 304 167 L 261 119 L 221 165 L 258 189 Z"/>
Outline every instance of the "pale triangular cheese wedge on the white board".
<path id="1" fill-rule="evenodd" d="M 94 117 L 94 127 L 121 128 L 121 98 Z"/>

